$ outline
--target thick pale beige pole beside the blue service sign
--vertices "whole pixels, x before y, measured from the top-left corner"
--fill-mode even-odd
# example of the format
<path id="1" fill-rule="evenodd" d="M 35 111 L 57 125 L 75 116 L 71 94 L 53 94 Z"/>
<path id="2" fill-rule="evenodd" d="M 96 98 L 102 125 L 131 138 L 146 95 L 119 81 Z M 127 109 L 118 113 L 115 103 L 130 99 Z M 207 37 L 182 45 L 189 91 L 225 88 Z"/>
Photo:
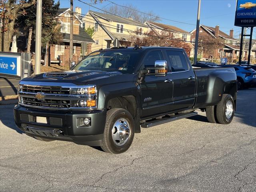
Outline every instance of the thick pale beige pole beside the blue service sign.
<path id="1" fill-rule="evenodd" d="M 40 74 L 42 37 L 42 0 L 36 0 L 36 56 L 35 74 Z"/>

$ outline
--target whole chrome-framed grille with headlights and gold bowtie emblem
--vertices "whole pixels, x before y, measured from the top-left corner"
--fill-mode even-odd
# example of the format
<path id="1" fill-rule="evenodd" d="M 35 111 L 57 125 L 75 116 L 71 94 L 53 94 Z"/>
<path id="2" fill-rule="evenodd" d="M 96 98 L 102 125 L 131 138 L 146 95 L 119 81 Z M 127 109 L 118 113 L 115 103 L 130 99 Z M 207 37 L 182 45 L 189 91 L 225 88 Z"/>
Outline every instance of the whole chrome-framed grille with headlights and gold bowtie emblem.
<path id="1" fill-rule="evenodd" d="M 77 86 L 68 82 L 21 81 L 18 95 L 20 105 L 32 108 L 52 110 L 97 108 L 95 85 Z"/>

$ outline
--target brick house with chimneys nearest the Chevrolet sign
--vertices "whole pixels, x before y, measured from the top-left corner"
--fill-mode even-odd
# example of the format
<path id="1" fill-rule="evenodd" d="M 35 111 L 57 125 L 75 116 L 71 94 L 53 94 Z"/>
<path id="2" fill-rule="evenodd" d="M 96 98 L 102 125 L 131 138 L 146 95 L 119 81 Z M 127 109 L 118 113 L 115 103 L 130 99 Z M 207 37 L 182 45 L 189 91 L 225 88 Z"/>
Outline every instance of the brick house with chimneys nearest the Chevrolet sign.
<path id="1" fill-rule="evenodd" d="M 190 32 L 192 34 L 191 36 L 191 42 L 194 44 L 196 40 L 196 29 L 192 30 Z M 239 56 L 239 50 L 240 46 L 237 44 L 239 41 L 233 37 L 234 35 L 234 30 L 230 30 L 230 34 L 226 34 L 220 30 L 219 26 L 214 27 L 209 27 L 205 25 L 200 25 L 199 28 L 199 36 L 209 36 L 209 37 L 220 37 L 224 39 L 224 44 L 222 49 L 216 49 L 214 53 L 214 58 L 220 59 L 221 58 L 221 53 L 222 57 L 227 57 L 229 62 L 233 62 L 234 60 L 237 59 Z M 200 52 L 200 51 L 199 51 Z M 201 60 L 207 60 L 208 55 L 204 54 L 203 52 L 200 52 L 200 55 L 198 58 L 201 58 Z"/>

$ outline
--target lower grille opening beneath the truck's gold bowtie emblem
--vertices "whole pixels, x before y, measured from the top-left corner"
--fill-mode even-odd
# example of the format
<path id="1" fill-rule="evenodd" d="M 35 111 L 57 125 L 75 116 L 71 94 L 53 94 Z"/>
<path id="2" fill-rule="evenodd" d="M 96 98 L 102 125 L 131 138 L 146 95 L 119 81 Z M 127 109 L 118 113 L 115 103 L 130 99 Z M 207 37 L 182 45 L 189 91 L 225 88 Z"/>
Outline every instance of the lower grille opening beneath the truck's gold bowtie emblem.
<path id="1" fill-rule="evenodd" d="M 54 100 L 54 99 L 38 100 L 37 98 L 21 97 L 21 102 L 24 105 L 38 106 L 38 107 L 70 108 L 70 100 Z"/>

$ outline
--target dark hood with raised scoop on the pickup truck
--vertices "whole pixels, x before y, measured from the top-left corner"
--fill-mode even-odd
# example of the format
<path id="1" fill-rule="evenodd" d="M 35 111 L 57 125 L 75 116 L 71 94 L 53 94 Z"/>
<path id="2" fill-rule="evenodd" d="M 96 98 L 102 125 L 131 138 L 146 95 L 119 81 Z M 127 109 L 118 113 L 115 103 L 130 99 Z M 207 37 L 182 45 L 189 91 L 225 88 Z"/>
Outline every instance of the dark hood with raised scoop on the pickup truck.
<path id="1" fill-rule="evenodd" d="M 22 79 L 22 81 L 38 81 L 38 82 L 72 82 L 75 84 L 86 84 L 89 81 L 94 81 L 112 76 L 122 75 L 118 71 L 102 71 L 102 70 L 86 70 L 86 71 L 56 71 L 46 72 Z"/>

